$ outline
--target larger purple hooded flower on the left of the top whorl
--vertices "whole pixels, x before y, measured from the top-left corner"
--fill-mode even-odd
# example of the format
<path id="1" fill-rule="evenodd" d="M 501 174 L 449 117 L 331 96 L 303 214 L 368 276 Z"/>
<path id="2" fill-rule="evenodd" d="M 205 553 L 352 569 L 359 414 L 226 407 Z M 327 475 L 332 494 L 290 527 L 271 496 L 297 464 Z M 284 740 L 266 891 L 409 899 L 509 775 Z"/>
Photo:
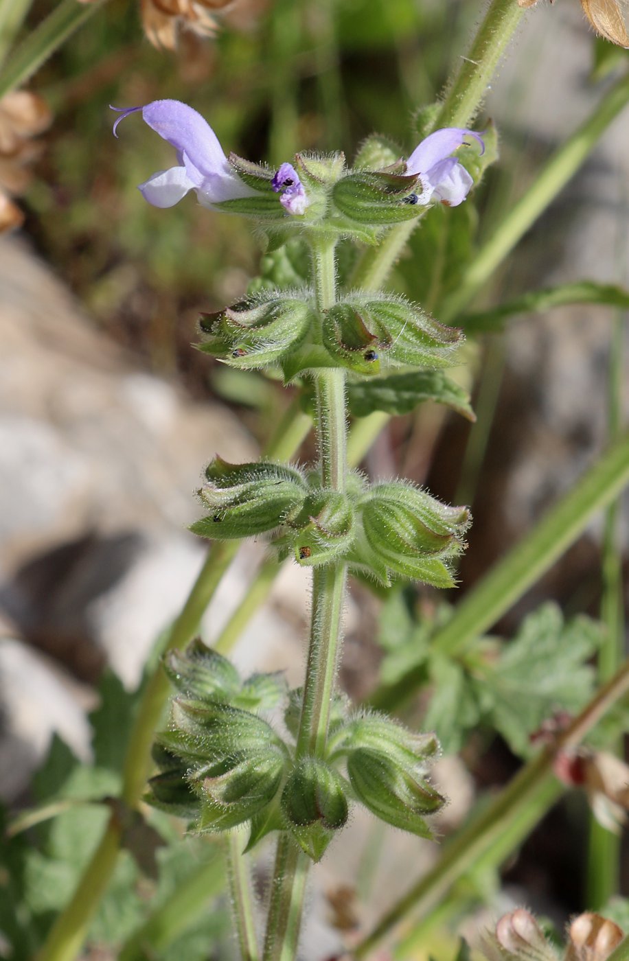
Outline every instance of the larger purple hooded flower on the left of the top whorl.
<path id="1" fill-rule="evenodd" d="M 177 151 L 177 166 L 159 170 L 138 187 L 153 207 L 174 207 L 189 190 L 196 192 L 203 207 L 255 194 L 233 171 L 212 127 L 188 104 L 179 100 L 153 100 L 145 107 L 113 107 L 112 110 L 120 113 L 113 124 L 115 136 L 121 120 L 130 113 L 142 111 L 144 123 Z"/>

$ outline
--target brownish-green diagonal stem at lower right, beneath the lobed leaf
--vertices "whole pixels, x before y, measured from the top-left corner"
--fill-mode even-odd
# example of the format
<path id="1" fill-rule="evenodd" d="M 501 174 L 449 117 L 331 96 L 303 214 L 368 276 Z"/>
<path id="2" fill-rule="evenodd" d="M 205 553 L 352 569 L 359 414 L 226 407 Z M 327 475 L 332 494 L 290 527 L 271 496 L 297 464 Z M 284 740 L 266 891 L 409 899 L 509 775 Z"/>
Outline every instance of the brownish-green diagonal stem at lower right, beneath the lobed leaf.
<path id="1" fill-rule="evenodd" d="M 483 808 L 455 837 L 444 846 L 440 859 L 426 875 L 421 877 L 401 899 L 390 908 L 382 921 L 354 949 L 357 961 L 368 956 L 411 912 L 417 916 L 438 905 L 452 885 L 488 855 L 494 845 L 503 844 L 504 832 L 512 822 L 523 816 L 527 818 L 528 805 L 553 777 L 552 765 L 556 753 L 576 748 L 601 717 L 629 691 L 629 661 L 616 676 L 601 688 L 574 719 L 553 747 L 542 751 L 529 761 L 513 780 L 489 805 Z M 552 792 L 548 798 L 552 801 Z M 503 849 L 504 850 L 504 849 Z"/>

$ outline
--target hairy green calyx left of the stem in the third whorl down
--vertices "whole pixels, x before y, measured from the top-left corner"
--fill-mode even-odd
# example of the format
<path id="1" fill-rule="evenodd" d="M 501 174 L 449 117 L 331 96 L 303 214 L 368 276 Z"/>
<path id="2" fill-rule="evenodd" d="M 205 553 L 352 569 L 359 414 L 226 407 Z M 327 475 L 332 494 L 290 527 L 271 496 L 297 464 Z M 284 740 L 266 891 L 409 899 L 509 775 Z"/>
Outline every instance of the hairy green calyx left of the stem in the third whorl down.
<path id="1" fill-rule="evenodd" d="M 251 537 L 278 528 L 308 493 L 300 472 L 284 464 L 230 464 L 215 457 L 205 477 L 198 494 L 212 514 L 196 521 L 190 530 L 217 540 Z"/>

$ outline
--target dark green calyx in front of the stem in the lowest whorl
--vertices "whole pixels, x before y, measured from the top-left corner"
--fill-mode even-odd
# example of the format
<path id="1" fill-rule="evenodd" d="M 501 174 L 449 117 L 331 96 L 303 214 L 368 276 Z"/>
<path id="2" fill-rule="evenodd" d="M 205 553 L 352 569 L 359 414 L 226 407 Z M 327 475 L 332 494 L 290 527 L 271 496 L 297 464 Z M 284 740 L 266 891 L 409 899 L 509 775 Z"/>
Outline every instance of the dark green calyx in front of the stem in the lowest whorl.
<path id="1" fill-rule="evenodd" d="M 290 772 L 281 799 L 285 823 L 300 847 L 319 861 L 347 821 L 340 775 L 324 761 L 304 757 Z"/>

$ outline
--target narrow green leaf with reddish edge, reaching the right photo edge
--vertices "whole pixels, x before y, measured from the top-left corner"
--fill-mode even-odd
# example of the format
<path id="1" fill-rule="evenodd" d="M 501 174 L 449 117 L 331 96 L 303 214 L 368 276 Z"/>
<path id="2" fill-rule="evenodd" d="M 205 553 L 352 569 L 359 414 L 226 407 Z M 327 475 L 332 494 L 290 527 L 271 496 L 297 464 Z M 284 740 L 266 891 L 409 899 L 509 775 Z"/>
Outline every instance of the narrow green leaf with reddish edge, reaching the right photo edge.
<path id="1" fill-rule="evenodd" d="M 564 283 L 557 287 L 531 290 L 516 300 L 489 310 L 468 313 L 460 323 L 465 333 L 495 332 L 502 330 L 505 322 L 518 313 L 539 312 L 570 304 L 600 304 L 626 310 L 629 309 L 629 290 L 615 283 Z"/>

